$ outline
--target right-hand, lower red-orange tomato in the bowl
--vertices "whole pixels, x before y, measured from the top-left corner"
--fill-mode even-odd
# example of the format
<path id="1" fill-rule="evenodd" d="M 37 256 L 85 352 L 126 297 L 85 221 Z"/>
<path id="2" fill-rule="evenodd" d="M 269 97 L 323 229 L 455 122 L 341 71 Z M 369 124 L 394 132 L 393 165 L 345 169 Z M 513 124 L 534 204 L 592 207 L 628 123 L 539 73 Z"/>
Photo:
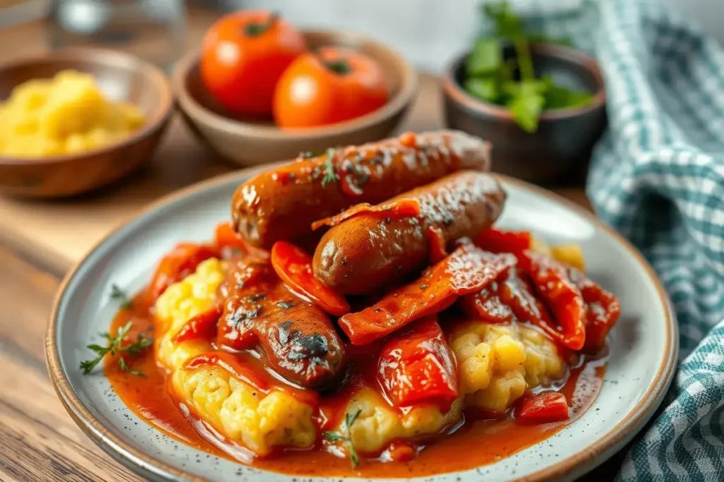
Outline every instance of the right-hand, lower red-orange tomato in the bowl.
<path id="1" fill-rule="evenodd" d="M 363 53 L 324 47 L 296 59 L 274 92 L 280 127 L 312 127 L 348 121 L 387 103 L 382 69 Z"/>

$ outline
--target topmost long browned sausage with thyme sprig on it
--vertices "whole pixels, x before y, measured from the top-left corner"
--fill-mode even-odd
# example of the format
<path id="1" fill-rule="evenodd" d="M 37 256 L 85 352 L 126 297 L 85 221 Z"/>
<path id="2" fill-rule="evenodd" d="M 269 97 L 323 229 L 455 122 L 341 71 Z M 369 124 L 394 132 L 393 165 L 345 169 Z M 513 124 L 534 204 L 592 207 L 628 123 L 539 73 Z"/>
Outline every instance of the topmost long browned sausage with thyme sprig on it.
<path id="1" fill-rule="evenodd" d="M 313 221 L 360 202 L 377 204 L 460 169 L 487 171 L 489 145 L 457 131 L 403 134 L 300 157 L 239 186 L 232 200 L 237 231 L 253 246 L 300 242 Z"/>

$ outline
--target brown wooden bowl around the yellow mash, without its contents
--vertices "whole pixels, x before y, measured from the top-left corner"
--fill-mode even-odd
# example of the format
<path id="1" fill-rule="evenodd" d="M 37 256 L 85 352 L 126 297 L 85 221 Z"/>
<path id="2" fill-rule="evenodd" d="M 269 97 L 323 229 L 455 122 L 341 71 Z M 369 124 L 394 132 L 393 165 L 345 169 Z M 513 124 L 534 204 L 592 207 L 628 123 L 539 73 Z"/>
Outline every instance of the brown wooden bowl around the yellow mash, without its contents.
<path id="1" fill-rule="evenodd" d="M 173 112 L 167 77 L 157 67 L 116 51 L 77 48 L 18 59 L 0 66 L 0 100 L 30 79 L 64 69 L 93 74 L 108 98 L 128 100 L 146 116 L 129 137 L 97 149 L 45 158 L 0 156 L 0 192 L 27 197 L 67 197 L 105 186 L 151 157 Z"/>

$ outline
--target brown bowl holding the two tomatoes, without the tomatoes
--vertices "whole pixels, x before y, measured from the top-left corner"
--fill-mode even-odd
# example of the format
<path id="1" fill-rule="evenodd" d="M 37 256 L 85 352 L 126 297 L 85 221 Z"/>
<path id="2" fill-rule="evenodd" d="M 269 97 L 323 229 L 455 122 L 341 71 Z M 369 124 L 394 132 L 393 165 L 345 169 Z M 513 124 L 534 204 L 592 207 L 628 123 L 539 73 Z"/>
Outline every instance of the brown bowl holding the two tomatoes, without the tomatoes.
<path id="1" fill-rule="evenodd" d="M 382 43 L 358 33 L 306 31 L 304 36 L 311 48 L 354 48 L 376 60 L 386 76 L 389 102 L 357 119 L 305 129 L 279 129 L 271 121 L 234 119 L 203 86 L 198 52 L 189 53 L 179 62 L 172 77 L 174 92 L 190 129 L 223 159 L 237 165 L 290 159 L 303 151 L 382 139 L 399 124 L 418 87 L 417 74 L 405 59 Z"/>

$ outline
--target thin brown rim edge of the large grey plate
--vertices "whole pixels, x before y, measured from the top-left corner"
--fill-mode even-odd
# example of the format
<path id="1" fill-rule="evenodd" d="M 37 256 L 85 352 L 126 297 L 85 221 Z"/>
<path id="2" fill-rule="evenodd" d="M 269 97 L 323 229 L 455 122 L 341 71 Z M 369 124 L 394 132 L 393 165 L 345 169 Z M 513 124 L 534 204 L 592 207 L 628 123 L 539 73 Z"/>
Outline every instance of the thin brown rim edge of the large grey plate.
<path id="1" fill-rule="evenodd" d="M 173 465 L 169 465 L 166 462 L 157 460 L 156 458 L 141 452 L 135 447 L 126 444 L 121 439 L 119 439 L 119 437 L 114 436 L 114 434 L 106 429 L 106 427 L 100 421 L 98 421 L 98 419 L 95 418 L 93 414 L 90 413 L 88 408 L 85 408 L 85 405 L 83 405 L 83 403 L 80 401 L 80 398 L 78 397 L 76 392 L 72 390 L 72 387 L 70 386 L 70 381 L 62 369 L 56 340 L 56 327 L 59 321 L 59 306 L 62 299 L 66 295 L 68 285 L 70 285 L 70 281 L 73 277 L 75 277 L 78 270 L 80 270 L 80 267 L 82 267 L 83 264 L 88 260 L 88 258 L 91 257 L 101 246 L 103 246 L 106 241 L 109 240 L 109 238 L 116 235 L 119 231 L 125 228 L 125 226 L 134 223 L 139 218 L 143 217 L 149 212 L 152 212 L 167 205 L 171 205 L 174 202 L 177 202 L 179 199 L 182 199 L 183 197 L 186 197 L 197 191 L 214 189 L 215 186 L 226 184 L 233 178 L 239 178 L 240 181 L 244 178 L 251 178 L 251 176 L 254 176 L 257 173 L 264 172 L 269 168 L 274 167 L 274 165 L 278 164 L 279 163 L 271 163 L 266 165 L 253 166 L 250 168 L 243 168 L 236 171 L 231 171 L 229 173 L 220 174 L 218 176 L 213 176 L 209 179 L 199 181 L 197 183 L 191 184 L 190 186 L 186 186 L 177 191 L 173 191 L 157 199 L 156 201 L 151 202 L 150 204 L 146 205 L 146 207 L 143 207 L 143 209 L 140 210 L 132 218 L 122 220 L 122 222 L 119 223 L 115 228 L 113 228 L 109 233 L 107 233 L 95 244 L 93 244 L 93 246 L 85 253 L 85 255 L 83 255 L 83 258 L 80 259 L 80 261 L 76 262 L 73 267 L 67 272 L 62 280 L 62 283 L 59 285 L 58 291 L 56 292 L 56 296 L 53 301 L 53 308 L 51 310 L 45 339 L 46 367 L 48 369 L 51 382 L 63 407 L 70 414 L 76 425 L 80 427 L 80 429 L 85 433 L 86 436 L 88 436 L 91 440 L 93 440 L 93 442 L 101 447 L 104 452 L 111 455 L 111 457 L 122 463 L 122 465 L 130 468 L 130 470 L 133 470 L 137 473 L 139 473 L 138 471 L 140 470 L 141 475 L 153 475 L 161 478 L 161 480 L 166 481 L 185 480 L 193 482 L 203 482 L 205 480 L 198 477 L 197 475 L 193 475 L 186 472 L 185 470 L 180 470 Z M 565 197 L 562 197 L 559 194 L 555 194 L 554 192 L 544 189 L 540 186 L 535 186 L 525 181 L 511 178 L 509 176 L 504 176 L 498 173 L 494 173 L 494 176 L 500 178 L 505 184 L 513 184 L 518 188 L 531 191 L 534 194 L 546 197 L 547 199 L 550 199 L 551 201 L 556 202 L 559 205 L 563 205 L 563 207 L 565 207 L 566 209 L 572 210 L 577 215 L 585 218 L 589 223 L 592 223 L 597 228 L 605 231 L 607 234 L 612 236 L 615 241 L 618 241 L 618 243 L 623 246 L 623 248 L 626 249 L 626 251 L 628 251 L 629 254 L 631 254 L 633 258 L 636 259 L 637 262 L 639 262 L 640 267 L 643 268 L 644 272 L 646 272 L 647 277 L 649 277 L 649 280 L 653 283 L 654 288 L 656 288 L 657 294 L 660 298 L 660 302 L 664 307 L 665 325 L 668 327 L 668 330 L 666 330 L 665 353 L 662 361 L 660 361 L 659 363 L 656 375 L 654 376 L 654 383 L 649 385 L 647 391 L 644 393 L 643 397 L 641 397 L 639 403 L 637 403 L 636 406 L 628 412 L 623 420 L 621 420 L 611 429 L 606 431 L 606 433 L 599 437 L 599 439 L 597 439 L 597 441 L 593 444 L 584 447 L 576 453 L 568 455 L 568 457 L 565 457 L 565 459 L 560 460 L 560 462 L 557 462 L 548 468 L 536 470 L 536 472 L 526 475 L 522 478 L 516 478 L 515 481 L 539 482 L 548 480 L 550 478 L 565 477 L 565 475 L 571 476 L 574 475 L 574 473 L 580 472 L 584 464 L 586 464 L 586 462 L 589 462 L 593 466 L 587 468 L 587 470 L 584 471 L 585 473 L 588 470 L 592 470 L 594 467 L 604 462 L 608 457 L 610 457 L 610 455 L 613 455 L 613 452 L 620 449 L 620 446 L 622 444 L 625 444 L 630 439 L 632 439 L 633 436 L 635 436 L 641 430 L 644 424 L 649 421 L 649 419 L 653 416 L 654 412 L 661 404 L 663 397 L 673 380 L 673 376 L 675 374 L 675 367 L 678 360 L 679 346 L 678 323 L 676 322 L 676 314 L 673 310 L 673 306 L 668 298 L 666 291 L 664 290 L 659 278 L 657 277 L 649 262 L 644 258 L 644 256 L 639 252 L 638 249 L 633 247 L 633 245 L 631 245 L 631 243 L 626 240 L 626 238 L 623 238 L 623 236 L 621 236 L 617 231 L 607 225 L 603 220 L 597 218 L 594 213 L 589 212 L 583 207 L 577 205 L 576 203 L 565 199 Z"/>

